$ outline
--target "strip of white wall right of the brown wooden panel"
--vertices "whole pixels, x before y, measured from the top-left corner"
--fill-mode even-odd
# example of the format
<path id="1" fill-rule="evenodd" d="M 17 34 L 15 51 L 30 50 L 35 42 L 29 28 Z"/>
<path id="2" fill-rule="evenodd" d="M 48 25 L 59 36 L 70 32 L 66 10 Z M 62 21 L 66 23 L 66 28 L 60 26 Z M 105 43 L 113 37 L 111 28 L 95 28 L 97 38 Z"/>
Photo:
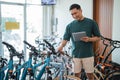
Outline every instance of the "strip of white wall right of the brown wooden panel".
<path id="1" fill-rule="evenodd" d="M 113 11 L 113 40 L 120 41 L 120 0 L 114 0 Z M 120 48 L 116 49 L 112 54 L 112 60 L 120 64 Z"/>

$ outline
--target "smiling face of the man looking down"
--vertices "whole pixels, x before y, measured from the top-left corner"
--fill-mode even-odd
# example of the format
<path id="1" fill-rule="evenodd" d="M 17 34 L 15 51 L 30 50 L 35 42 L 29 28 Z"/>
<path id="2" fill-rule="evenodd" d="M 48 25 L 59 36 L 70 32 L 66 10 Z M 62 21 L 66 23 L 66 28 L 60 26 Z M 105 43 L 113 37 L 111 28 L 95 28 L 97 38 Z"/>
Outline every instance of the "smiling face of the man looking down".
<path id="1" fill-rule="evenodd" d="M 81 9 L 74 8 L 74 9 L 70 10 L 70 12 L 74 19 L 81 20 L 81 18 L 82 18 L 82 10 Z"/>

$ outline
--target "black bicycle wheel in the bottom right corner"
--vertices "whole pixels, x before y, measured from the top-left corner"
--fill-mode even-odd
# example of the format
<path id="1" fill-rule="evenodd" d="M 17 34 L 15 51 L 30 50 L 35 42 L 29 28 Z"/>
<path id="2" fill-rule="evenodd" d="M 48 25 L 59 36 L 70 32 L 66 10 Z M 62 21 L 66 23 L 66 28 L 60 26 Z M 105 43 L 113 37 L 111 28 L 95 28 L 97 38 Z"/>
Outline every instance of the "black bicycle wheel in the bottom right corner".
<path id="1" fill-rule="evenodd" d="M 104 80 L 120 80 L 120 70 L 110 72 Z"/>

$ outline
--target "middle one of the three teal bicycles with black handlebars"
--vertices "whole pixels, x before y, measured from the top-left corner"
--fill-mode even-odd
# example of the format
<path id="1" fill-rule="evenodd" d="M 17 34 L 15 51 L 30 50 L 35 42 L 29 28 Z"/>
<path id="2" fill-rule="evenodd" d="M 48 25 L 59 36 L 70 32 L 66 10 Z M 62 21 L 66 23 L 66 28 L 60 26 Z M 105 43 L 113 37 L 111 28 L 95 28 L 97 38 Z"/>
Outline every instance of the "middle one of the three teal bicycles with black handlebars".
<path id="1" fill-rule="evenodd" d="M 31 50 L 29 52 L 29 59 L 26 61 L 19 69 L 23 68 L 23 73 L 21 76 L 21 80 L 26 80 L 26 76 L 29 75 L 29 80 L 34 80 L 34 69 L 32 64 L 32 58 L 33 56 L 38 55 L 38 50 L 29 44 L 27 41 L 24 41 L 25 44 L 28 45 L 28 49 Z"/>

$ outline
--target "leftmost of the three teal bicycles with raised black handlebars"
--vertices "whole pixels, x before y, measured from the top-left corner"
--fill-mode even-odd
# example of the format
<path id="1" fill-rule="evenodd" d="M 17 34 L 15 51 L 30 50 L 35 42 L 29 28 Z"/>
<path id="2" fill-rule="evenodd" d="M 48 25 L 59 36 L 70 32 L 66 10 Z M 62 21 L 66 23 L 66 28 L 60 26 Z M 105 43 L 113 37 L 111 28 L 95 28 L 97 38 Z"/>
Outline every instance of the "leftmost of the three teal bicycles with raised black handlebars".
<path id="1" fill-rule="evenodd" d="M 14 75 L 14 61 L 13 61 L 13 57 L 14 56 L 18 56 L 18 55 L 21 55 L 20 53 L 18 53 L 17 51 L 16 51 L 16 49 L 11 45 L 11 44 L 9 44 L 9 43 L 7 43 L 7 42 L 2 42 L 4 45 L 6 45 L 6 47 L 7 47 L 7 49 L 9 50 L 9 52 L 10 52 L 10 59 L 9 59 L 9 62 L 8 62 L 8 64 L 7 64 L 7 66 L 4 66 L 3 67 L 3 71 L 5 71 L 6 69 L 8 69 L 7 70 L 7 72 L 6 72 L 6 74 L 5 74 L 5 77 L 4 77 L 4 79 L 5 80 L 9 80 L 9 79 L 16 79 L 16 80 L 19 80 L 19 71 L 17 71 L 16 72 L 16 75 Z M 3 75 L 4 76 L 4 75 Z"/>

